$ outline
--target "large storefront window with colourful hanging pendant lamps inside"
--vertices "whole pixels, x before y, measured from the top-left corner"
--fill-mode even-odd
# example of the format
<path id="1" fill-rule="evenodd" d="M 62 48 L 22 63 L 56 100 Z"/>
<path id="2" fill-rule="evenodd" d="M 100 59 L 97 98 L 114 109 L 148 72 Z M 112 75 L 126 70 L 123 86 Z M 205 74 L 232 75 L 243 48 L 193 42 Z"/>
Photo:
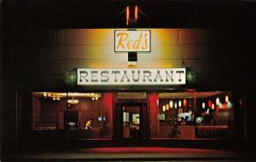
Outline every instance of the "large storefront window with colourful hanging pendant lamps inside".
<path id="1" fill-rule="evenodd" d="M 160 138 L 230 137 L 233 108 L 230 92 L 159 93 Z"/>

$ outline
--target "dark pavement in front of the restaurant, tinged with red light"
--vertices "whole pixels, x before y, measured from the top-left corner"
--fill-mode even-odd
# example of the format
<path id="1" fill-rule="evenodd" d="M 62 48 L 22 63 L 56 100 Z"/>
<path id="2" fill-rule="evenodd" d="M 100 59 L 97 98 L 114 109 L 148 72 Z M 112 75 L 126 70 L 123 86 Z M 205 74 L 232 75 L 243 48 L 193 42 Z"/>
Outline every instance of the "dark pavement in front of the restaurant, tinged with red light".
<path id="1" fill-rule="evenodd" d="M 253 153 L 200 148 L 79 148 L 13 153 L 2 161 L 256 161 Z"/>

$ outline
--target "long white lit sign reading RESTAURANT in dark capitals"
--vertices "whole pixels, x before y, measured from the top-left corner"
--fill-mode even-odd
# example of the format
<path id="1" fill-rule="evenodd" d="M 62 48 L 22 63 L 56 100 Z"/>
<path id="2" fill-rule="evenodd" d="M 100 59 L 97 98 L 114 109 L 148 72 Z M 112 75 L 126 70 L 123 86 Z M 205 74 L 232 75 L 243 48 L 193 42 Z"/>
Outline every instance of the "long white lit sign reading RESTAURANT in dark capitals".
<path id="1" fill-rule="evenodd" d="M 185 68 L 79 68 L 79 85 L 172 85 L 186 84 Z"/>

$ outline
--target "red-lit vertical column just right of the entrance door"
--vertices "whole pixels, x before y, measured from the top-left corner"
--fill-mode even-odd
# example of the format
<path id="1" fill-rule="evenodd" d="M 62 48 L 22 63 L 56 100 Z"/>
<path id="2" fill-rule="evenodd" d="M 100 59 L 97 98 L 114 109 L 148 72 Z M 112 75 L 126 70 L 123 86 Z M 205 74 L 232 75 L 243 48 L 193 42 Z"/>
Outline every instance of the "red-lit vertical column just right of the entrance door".
<path id="1" fill-rule="evenodd" d="M 148 97 L 149 111 L 150 111 L 150 134 L 151 138 L 159 136 L 159 107 L 158 107 L 159 95 L 157 93 L 150 93 Z"/>

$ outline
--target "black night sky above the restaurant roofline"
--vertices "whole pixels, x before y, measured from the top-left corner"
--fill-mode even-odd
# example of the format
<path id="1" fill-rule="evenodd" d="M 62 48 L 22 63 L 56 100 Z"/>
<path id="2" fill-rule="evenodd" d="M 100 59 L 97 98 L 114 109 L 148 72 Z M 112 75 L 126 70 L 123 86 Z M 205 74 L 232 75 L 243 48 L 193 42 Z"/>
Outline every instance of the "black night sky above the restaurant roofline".
<path id="1" fill-rule="evenodd" d="M 5 0 L 4 28 L 117 28 L 127 4 L 137 4 L 137 27 L 237 28 L 255 26 L 253 1 Z"/>

